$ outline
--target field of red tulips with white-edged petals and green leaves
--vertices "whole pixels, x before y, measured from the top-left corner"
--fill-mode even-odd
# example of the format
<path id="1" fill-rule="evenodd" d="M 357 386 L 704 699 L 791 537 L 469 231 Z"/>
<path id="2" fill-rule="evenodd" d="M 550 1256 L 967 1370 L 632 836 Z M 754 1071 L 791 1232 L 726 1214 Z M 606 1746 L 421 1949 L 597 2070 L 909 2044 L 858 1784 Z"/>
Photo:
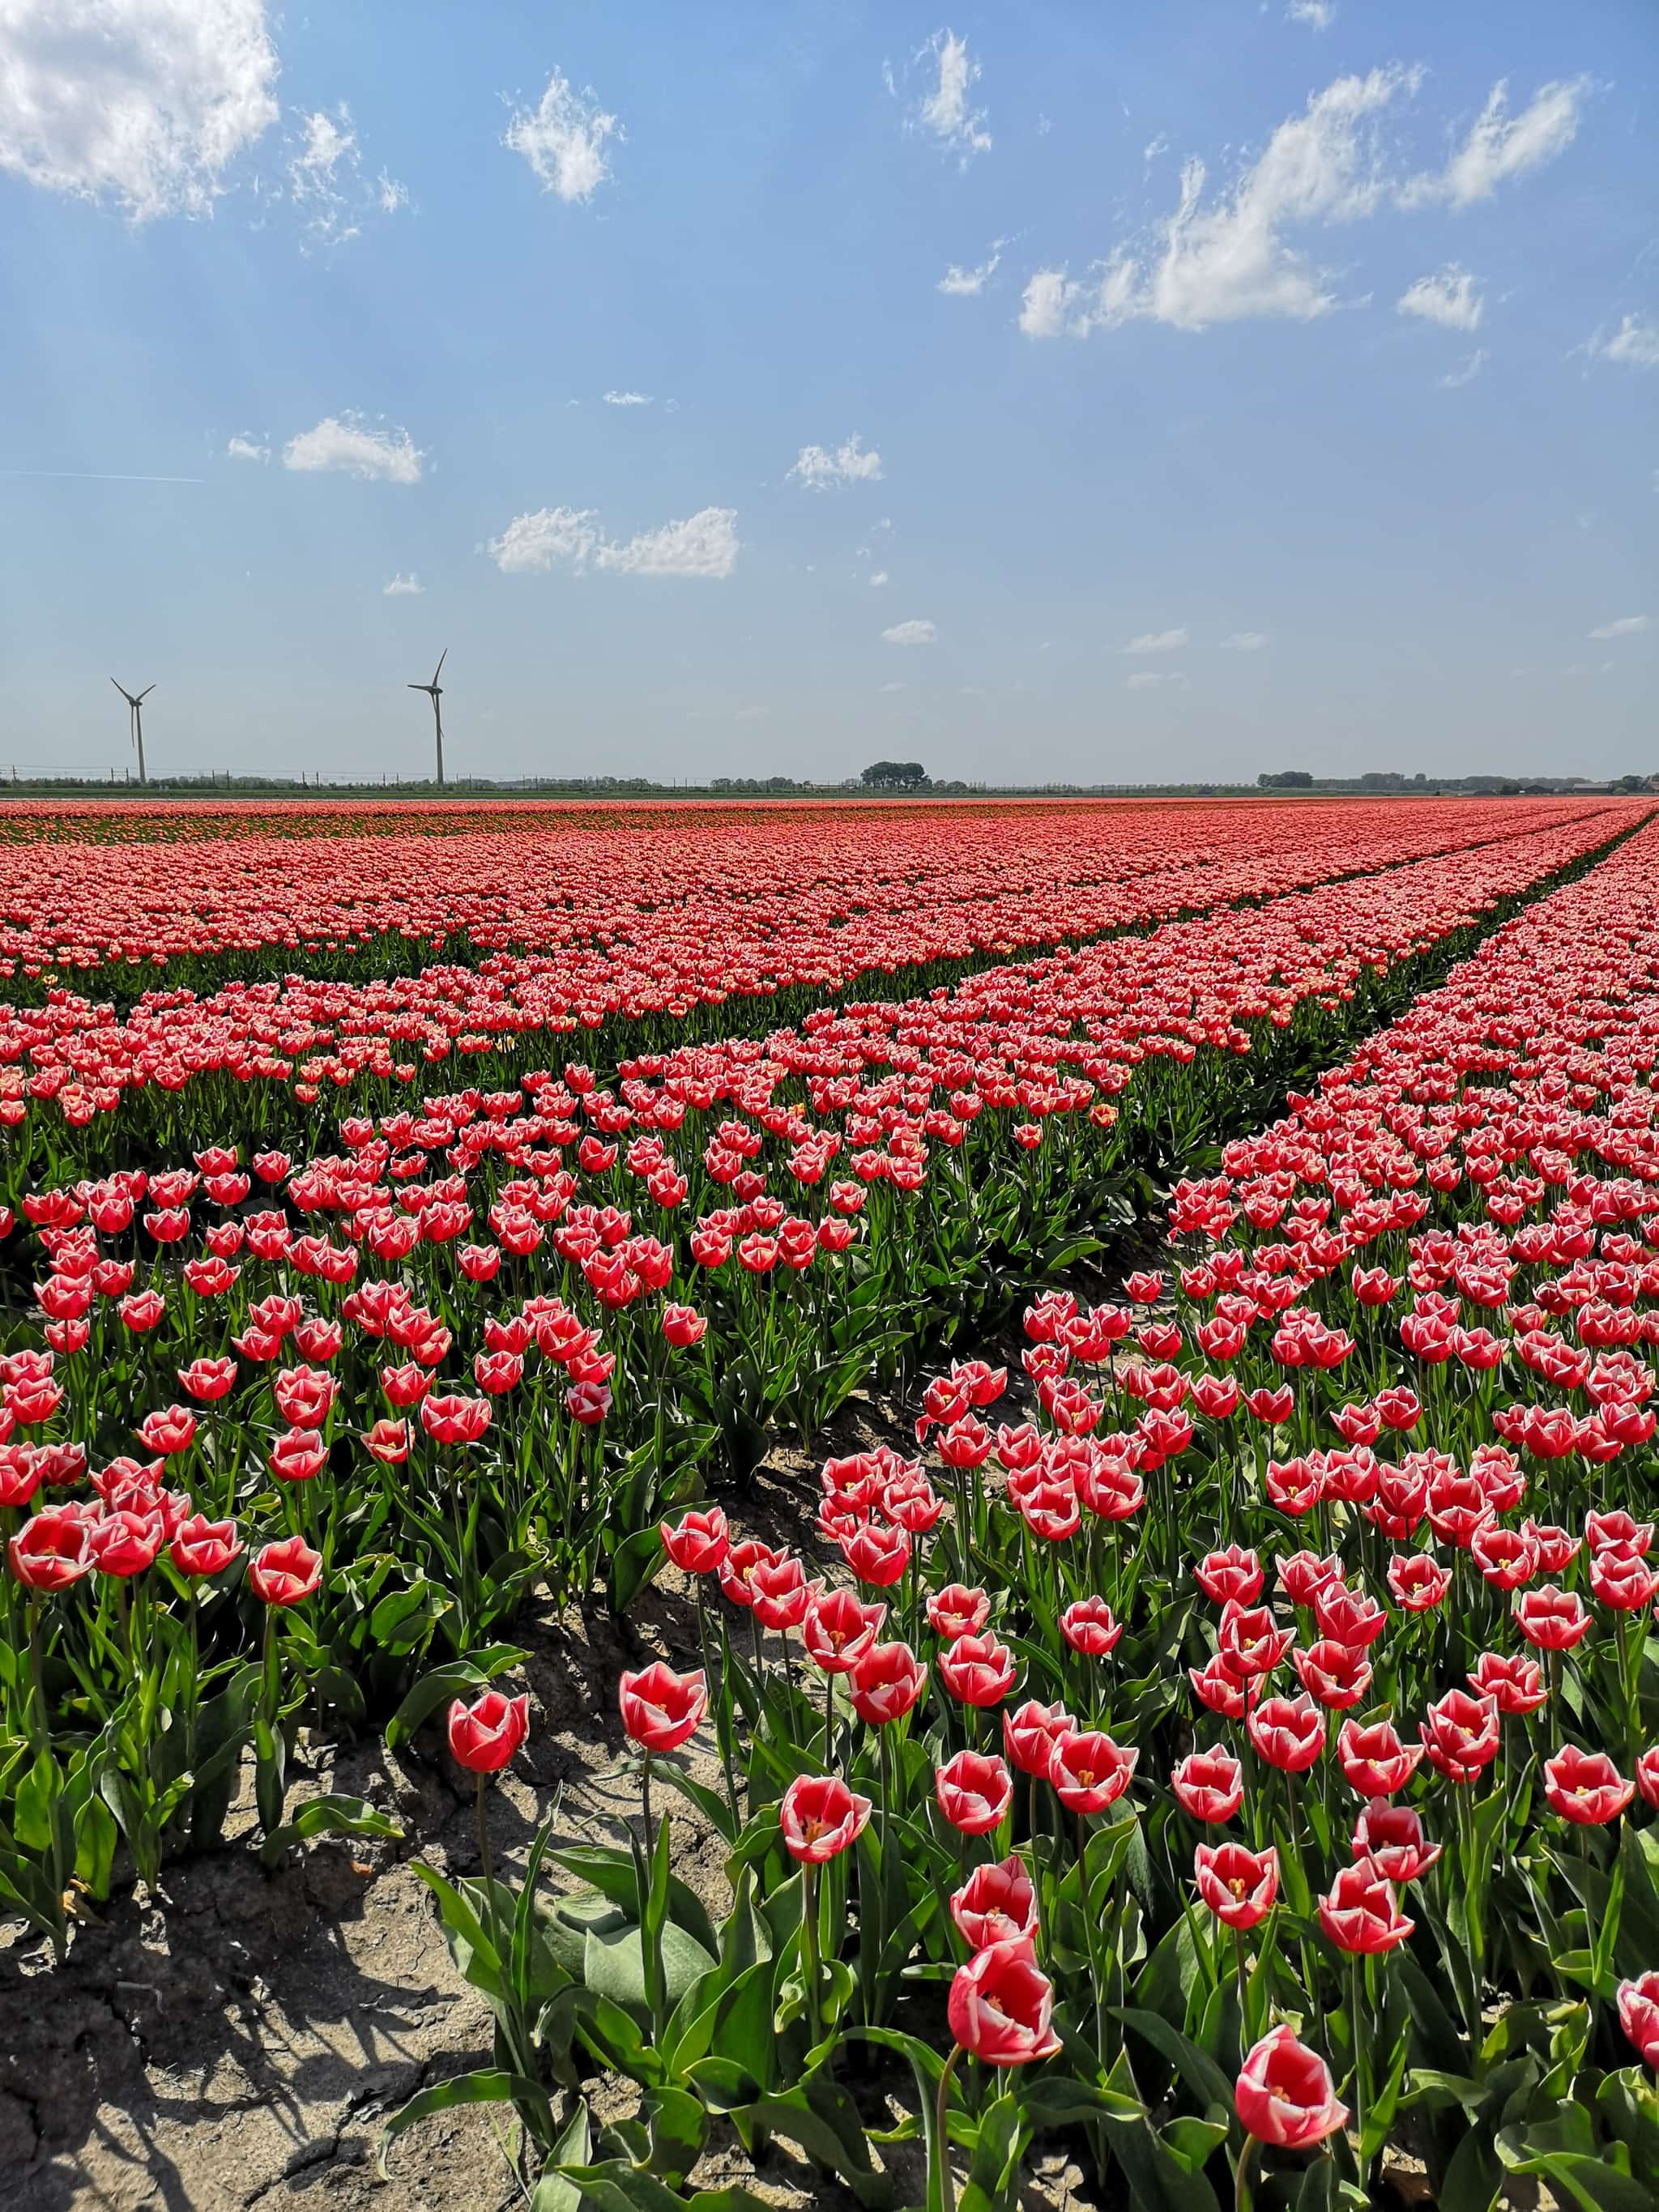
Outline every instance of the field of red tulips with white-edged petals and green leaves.
<path id="1" fill-rule="evenodd" d="M 0 2004 L 473 2002 L 7 2201 L 1659 2212 L 1648 801 L 18 803 L 0 993 Z"/>

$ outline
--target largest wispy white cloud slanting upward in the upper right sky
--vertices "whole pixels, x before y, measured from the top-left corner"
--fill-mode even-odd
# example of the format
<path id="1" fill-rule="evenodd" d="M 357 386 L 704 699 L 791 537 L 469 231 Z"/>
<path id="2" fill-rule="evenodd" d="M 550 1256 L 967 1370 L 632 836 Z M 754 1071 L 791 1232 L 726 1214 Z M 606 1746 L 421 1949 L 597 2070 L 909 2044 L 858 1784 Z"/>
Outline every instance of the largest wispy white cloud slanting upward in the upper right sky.
<path id="1" fill-rule="evenodd" d="M 1026 285 L 1020 327 L 1031 338 L 1053 338 L 1062 330 L 1086 336 L 1128 321 L 1203 330 L 1245 316 L 1329 314 L 1338 305 L 1329 272 L 1283 232 L 1356 221 L 1387 201 L 1376 117 L 1418 82 L 1420 71 L 1398 66 L 1336 77 L 1310 97 L 1303 115 L 1279 124 L 1259 159 L 1210 206 L 1203 161 L 1186 161 L 1181 201 L 1157 226 L 1146 259 L 1119 246 L 1091 283 L 1040 270 Z"/>

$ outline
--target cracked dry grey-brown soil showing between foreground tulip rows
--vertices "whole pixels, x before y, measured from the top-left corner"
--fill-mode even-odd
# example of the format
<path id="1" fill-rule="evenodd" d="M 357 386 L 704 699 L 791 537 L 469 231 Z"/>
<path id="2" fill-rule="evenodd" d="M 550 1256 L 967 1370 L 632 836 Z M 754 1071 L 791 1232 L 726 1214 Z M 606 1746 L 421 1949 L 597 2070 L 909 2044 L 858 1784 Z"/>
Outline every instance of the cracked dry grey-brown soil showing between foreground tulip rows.
<path id="1" fill-rule="evenodd" d="M 852 1409 L 847 1409 L 852 1413 Z M 856 1427 L 887 1425 L 863 1409 Z M 852 1429 L 852 1422 L 847 1422 Z M 836 1449 L 854 1449 L 852 1440 Z M 745 1535 L 821 1553 L 812 1528 L 816 1471 L 774 1455 L 734 1506 Z M 688 1586 L 668 1571 L 630 1621 L 602 1610 L 551 1613 L 522 1626 L 531 1734 L 491 1790 L 498 1869 L 515 1876 L 535 1827 L 557 1840 L 622 1840 L 637 1781 L 617 1774 L 624 1734 L 617 1674 L 646 1657 L 697 1666 Z M 719 1783 L 712 1747 L 695 1745 L 699 1778 Z M 504 2106 L 458 2108 L 394 2146 L 376 2166 L 383 2119 L 414 2090 L 489 2064 L 484 2002 L 449 1962 L 411 1860 L 473 1874 L 471 1792 L 438 1734 L 403 1756 L 378 1741 L 301 1745 L 299 1794 L 343 1790 L 398 1818 L 403 1843 L 323 1840 L 263 1874 L 243 1792 L 230 1847 L 168 1867 L 164 1905 L 115 1898 L 77 1931 L 64 1969 L 15 1924 L 0 1931 L 0 2205 L 7 2212 L 507 2212 L 522 2205 Z M 719 1836 L 672 1803 L 675 1869 L 723 1913 Z M 562 1876 L 555 1876 L 562 1880 Z M 597 2119 L 633 2110 L 628 2084 L 586 2084 Z M 905 2110 L 909 2077 L 860 2086 L 876 2126 Z M 1060 2150 L 1031 2163 L 1033 2205 L 1093 2199 Z M 925 2194 L 909 2146 L 896 2161 L 900 2201 Z M 909 2172 L 916 2166 L 916 2172 Z M 717 2128 L 695 2185 L 743 2181 L 776 2205 L 847 2208 L 852 2197 L 774 2146 L 757 2174 Z"/>

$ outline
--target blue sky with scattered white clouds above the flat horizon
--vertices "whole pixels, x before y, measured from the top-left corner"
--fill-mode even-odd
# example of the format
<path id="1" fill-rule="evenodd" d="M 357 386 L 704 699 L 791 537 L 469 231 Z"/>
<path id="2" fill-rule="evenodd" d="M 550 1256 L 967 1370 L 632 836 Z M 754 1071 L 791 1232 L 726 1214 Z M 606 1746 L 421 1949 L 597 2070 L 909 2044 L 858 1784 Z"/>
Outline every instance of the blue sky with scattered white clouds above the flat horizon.
<path id="1" fill-rule="evenodd" d="M 1644 0 L 0 22 L 9 761 L 1659 768 Z"/>

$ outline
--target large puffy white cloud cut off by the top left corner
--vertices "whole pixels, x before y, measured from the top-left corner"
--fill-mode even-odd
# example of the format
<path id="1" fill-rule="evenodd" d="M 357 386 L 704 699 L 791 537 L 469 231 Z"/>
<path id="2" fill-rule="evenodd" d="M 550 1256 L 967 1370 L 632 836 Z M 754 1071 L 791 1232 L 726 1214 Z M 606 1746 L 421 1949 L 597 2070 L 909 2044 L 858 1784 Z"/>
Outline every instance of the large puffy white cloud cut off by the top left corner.
<path id="1" fill-rule="evenodd" d="M 146 223 L 212 215 L 276 122 L 263 0 L 0 0 L 0 170 Z"/>

